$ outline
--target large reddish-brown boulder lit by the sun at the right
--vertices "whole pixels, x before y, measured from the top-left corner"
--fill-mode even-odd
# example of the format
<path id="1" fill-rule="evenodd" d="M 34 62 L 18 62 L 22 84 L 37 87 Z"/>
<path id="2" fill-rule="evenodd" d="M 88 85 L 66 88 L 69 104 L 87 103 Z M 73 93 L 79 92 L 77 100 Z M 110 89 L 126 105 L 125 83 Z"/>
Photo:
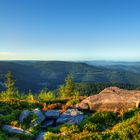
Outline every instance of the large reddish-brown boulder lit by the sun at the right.
<path id="1" fill-rule="evenodd" d="M 109 87 L 97 95 L 84 99 L 76 107 L 90 111 L 125 112 L 133 107 L 138 107 L 140 91 L 124 90 L 118 87 Z"/>

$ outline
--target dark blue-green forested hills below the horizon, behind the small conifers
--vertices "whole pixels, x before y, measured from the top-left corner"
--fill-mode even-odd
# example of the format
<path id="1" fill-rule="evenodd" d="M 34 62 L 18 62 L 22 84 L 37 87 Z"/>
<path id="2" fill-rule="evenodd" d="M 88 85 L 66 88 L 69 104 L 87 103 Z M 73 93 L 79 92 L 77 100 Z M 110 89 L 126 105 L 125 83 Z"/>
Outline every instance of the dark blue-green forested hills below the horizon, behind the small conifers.
<path id="1" fill-rule="evenodd" d="M 127 66 L 94 66 L 81 62 L 62 61 L 0 61 L 0 86 L 4 75 L 11 71 L 16 85 L 23 90 L 40 90 L 44 87 L 56 88 L 64 83 L 71 73 L 75 82 L 123 83 L 140 85 L 140 73 L 128 71 Z M 132 66 L 133 67 L 133 66 Z"/>

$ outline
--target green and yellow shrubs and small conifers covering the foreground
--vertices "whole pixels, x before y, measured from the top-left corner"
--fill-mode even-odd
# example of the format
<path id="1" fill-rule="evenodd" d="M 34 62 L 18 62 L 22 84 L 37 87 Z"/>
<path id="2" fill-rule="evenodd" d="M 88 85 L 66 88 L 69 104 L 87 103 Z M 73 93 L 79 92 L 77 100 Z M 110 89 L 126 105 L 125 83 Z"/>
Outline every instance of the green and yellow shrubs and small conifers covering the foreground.
<path id="1" fill-rule="evenodd" d="M 44 108 L 44 111 L 46 111 L 45 109 L 62 109 L 62 111 L 65 111 L 65 107 L 73 107 L 73 105 L 81 100 L 81 96 L 79 96 L 81 91 L 73 82 L 72 76 L 68 75 L 65 85 L 61 87 L 62 89 L 59 89 L 60 95 L 64 99 L 56 98 L 52 91 L 42 91 L 38 95 L 38 101 L 34 99 L 31 91 L 29 91 L 26 98 L 17 98 L 17 96 L 15 96 L 14 82 L 12 82 L 12 79 L 12 75 L 8 74 L 6 82 L 7 91 L 1 94 L 3 95 L 3 98 L 8 95 L 10 100 L 0 101 L 0 126 L 3 124 L 10 124 L 28 130 L 34 135 L 38 135 L 40 131 L 46 130 L 47 132 L 44 136 L 45 140 L 69 140 L 71 138 L 75 140 L 140 139 L 140 110 L 138 108 L 126 112 L 123 116 L 117 116 L 113 112 L 95 112 L 93 114 L 91 114 L 91 112 L 84 112 L 87 117 L 78 126 L 63 124 L 55 128 L 50 127 L 42 129 L 42 124 L 38 124 L 38 117 L 34 113 L 31 113 L 23 123 L 19 123 L 19 114 L 25 109 L 32 110 L 35 108 Z M 101 88 L 102 86 L 99 87 Z M 98 91 L 99 89 L 97 86 L 96 90 Z M 15 134 L 14 138 L 16 137 L 19 139 L 33 139 L 20 134 Z M 0 140 L 9 138 L 11 138 L 11 135 L 3 133 L 0 129 Z"/>

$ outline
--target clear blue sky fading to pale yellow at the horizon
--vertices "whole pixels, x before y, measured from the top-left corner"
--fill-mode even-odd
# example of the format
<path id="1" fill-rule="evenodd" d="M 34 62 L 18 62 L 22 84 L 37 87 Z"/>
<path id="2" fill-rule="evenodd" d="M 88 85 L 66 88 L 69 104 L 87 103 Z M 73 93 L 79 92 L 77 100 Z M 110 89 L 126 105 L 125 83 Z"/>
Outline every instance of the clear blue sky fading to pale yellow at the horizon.
<path id="1" fill-rule="evenodd" d="M 0 60 L 140 61 L 140 1 L 0 0 Z"/>

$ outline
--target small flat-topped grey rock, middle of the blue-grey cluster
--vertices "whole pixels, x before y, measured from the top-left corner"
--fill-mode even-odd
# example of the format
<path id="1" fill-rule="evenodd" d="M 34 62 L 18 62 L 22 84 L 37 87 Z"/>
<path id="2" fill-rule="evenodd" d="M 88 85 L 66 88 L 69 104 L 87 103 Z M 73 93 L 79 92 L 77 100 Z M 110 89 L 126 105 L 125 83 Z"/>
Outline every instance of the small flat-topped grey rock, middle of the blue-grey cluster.
<path id="1" fill-rule="evenodd" d="M 45 112 L 45 116 L 47 118 L 57 119 L 60 116 L 60 111 L 59 110 L 48 110 L 47 112 Z"/>

